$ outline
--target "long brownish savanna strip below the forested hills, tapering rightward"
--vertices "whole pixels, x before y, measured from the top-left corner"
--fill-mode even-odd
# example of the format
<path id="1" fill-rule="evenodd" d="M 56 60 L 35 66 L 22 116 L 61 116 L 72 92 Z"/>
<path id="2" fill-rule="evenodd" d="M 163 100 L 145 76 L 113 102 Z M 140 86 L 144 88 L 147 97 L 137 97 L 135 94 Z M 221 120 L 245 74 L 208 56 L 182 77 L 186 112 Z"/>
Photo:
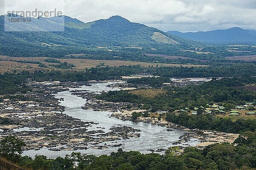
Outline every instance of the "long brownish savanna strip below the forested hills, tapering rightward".
<path id="1" fill-rule="evenodd" d="M 16 71 L 33 71 L 38 69 L 55 69 L 61 70 L 60 68 L 55 68 L 52 65 L 56 63 L 45 62 L 47 57 L 7 57 L 0 56 L 0 73 Z M 86 68 L 93 68 L 97 65 L 102 66 L 121 66 L 121 65 L 141 65 L 143 67 L 148 66 L 169 66 L 169 67 L 204 67 L 207 65 L 179 65 L 179 64 L 161 64 L 161 63 L 150 63 L 150 62 L 134 62 L 134 61 L 119 61 L 119 60 L 94 60 L 94 59 L 57 59 L 61 62 L 68 62 L 73 64 L 72 70 L 82 71 Z M 34 62 L 34 63 L 29 63 Z M 39 64 L 35 62 L 40 62 L 47 66 L 47 68 L 39 67 Z M 104 64 L 103 64 L 104 63 Z"/>

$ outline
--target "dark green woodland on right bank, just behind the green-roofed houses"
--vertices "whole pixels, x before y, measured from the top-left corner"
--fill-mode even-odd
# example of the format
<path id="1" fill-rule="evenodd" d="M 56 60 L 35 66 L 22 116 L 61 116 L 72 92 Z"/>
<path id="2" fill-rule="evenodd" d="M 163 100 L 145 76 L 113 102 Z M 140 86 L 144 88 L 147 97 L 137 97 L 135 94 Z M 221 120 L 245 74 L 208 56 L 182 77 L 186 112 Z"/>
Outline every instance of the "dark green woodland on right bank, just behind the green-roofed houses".
<path id="1" fill-rule="evenodd" d="M 139 82 L 140 80 L 135 80 Z M 189 85 L 183 88 L 172 86 L 166 88 L 165 94 L 154 98 L 145 98 L 130 94 L 129 91 L 110 91 L 97 96 L 98 99 L 110 102 L 133 102 L 138 105 L 150 105 L 151 111 L 174 111 L 188 107 L 204 106 L 214 102 L 231 109 L 235 105 L 244 105 L 246 101 L 256 101 L 256 92 L 244 90 L 246 84 L 255 83 L 254 77 L 223 78 L 211 80 L 201 85 Z M 142 106 L 143 108 L 143 106 Z"/>

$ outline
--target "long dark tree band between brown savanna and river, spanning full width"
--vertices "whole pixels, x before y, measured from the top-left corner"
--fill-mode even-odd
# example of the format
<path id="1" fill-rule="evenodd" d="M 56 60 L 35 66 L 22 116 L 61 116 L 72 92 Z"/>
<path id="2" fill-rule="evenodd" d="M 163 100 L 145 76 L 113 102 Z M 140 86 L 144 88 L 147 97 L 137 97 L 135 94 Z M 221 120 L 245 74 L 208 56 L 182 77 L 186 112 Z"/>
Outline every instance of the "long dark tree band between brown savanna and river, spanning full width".
<path id="1" fill-rule="evenodd" d="M 64 65 L 69 66 L 69 65 Z M 27 91 L 26 87 L 18 88 L 26 79 L 35 81 L 57 80 L 61 82 L 81 82 L 87 80 L 120 79 L 121 76 L 133 74 L 152 74 L 161 77 L 240 77 L 256 76 L 256 65 L 228 65 L 202 68 L 184 67 L 141 67 L 119 66 L 119 67 L 97 67 L 86 71 L 35 71 L 20 72 L 14 74 L 0 75 L 0 94 L 15 93 L 16 91 Z M 154 79 L 149 79 L 154 81 Z M 130 80 L 137 81 L 137 80 Z M 148 81 L 148 80 L 147 80 Z M 159 79 L 159 81 L 162 81 Z M 145 83 L 145 82 L 144 82 Z M 156 81 L 152 82 L 156 83 Z"/>

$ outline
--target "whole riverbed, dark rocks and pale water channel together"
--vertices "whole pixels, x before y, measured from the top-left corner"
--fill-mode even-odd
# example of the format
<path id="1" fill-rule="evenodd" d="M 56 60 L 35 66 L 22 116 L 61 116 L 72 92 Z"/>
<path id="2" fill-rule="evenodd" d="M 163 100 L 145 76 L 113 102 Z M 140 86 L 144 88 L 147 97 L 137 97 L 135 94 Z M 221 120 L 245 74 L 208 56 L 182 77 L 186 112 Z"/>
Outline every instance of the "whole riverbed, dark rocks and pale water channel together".
<path id="1" fill-rule="evenodd" d="M 171 146 L 195 146 L 216 142 L 223 134 L 195 133 L 164 120 L 141 118 L 132 103 L 97 100 L 102 92 L 131 88 L 125 82 L 30 82 L 32 91 L 23 99 L 4 99 L 0 116 L 13 125 L 1 126 L 0 138 L 14 135 L 26 142 L 24 155 L 64 156 L 74 150 L 95 155 L 123 150 L 163 153 Z M 124 106 L 133 110 L 126 111 Z M 217 136 L 216 136 L 217 135 Z M 229 134 L 223 137 L 226 141 Z M 230 140 L 231 142 L 231 140 Z"/>

